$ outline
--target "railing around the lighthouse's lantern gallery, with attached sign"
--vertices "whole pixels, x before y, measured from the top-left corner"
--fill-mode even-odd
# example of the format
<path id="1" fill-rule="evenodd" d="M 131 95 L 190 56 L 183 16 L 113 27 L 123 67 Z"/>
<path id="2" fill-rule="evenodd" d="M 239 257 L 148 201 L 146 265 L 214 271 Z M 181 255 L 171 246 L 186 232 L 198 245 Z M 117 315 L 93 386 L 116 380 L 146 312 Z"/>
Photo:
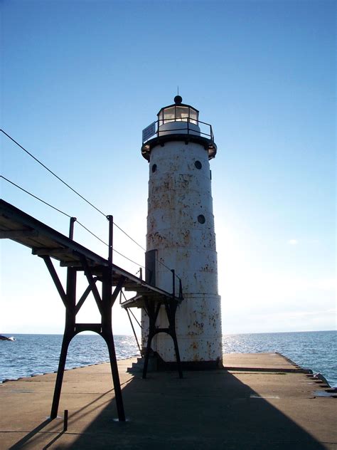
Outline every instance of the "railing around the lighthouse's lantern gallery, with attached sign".
<path id="1" fill-rule="evenodd" d="M 172 119 L 161 118 L 156 120 L 156 122 L 152 122 L 151 125 L 143 130 L 142 143 L 144 144 L 154 137 L 154 135 L 156 135 L 156 137 L 160 137 L 174 134 L 197 135 L 200 137 L 205 137 L 212 142 L 214 141 L 212 125 L 191 117 L 181 117 Z"/>

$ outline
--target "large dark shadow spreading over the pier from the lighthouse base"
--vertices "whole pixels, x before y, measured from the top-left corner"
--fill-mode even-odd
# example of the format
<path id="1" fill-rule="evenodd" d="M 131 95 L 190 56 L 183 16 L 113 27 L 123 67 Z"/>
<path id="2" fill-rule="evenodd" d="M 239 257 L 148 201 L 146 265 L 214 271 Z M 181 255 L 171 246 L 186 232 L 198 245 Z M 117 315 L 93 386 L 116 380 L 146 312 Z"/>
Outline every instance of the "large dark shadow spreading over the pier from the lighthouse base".
<path id="1" fill-rule="evenodd" d="M 100 394 L 95 418 L 98 398 L 70 410 L 67 432 L 54 431 L 46 443 L 40 427 L 11 450 L 328 448 L 226 370 L 185 372 L 182 380 L 176 372 L 132 378 L 122 386 L 127 422 L 114 421 L 111 393 Z"/>

